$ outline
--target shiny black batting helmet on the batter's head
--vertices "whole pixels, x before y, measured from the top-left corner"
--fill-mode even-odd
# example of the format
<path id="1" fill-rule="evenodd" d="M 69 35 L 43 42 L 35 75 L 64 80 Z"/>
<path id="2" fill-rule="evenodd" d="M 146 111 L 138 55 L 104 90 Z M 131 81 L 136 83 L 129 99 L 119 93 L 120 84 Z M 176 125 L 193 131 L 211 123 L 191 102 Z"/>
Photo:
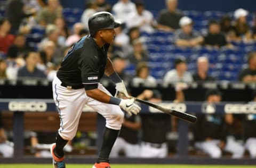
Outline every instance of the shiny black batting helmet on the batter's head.
<path id="1" fill-rule="evenodd" d="M 121 26 L 121 22 L 115 21 L 114 16 L 109 12 L 97 12 L 93 14 L 88 21 L 90 35 L 102 29 L 114 29 Z"/>

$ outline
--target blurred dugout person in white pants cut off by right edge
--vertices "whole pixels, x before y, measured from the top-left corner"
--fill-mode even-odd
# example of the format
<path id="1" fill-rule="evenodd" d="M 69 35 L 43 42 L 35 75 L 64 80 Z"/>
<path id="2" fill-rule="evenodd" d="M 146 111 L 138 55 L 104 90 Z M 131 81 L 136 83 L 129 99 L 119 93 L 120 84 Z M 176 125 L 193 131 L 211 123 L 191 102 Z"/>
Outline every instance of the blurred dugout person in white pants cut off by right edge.
<path id="1" fill-rule="evenodd" d="M 256 90 L 252 94 L 252 102 L 256 103 Z M 256 114 L 246 114 L 243 123 L 245 149 L 249 151 L 251 158 L 256 158 Z"/>

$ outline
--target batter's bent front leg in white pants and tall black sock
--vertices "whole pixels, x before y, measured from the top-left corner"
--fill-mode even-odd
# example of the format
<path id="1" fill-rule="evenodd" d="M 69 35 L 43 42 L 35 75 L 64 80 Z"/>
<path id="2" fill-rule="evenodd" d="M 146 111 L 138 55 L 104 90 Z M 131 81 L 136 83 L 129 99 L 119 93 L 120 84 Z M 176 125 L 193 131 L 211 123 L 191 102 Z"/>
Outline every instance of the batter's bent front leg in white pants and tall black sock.
<path id="1" fill-rule="evenodd" d="M 106 88 L 99 84 L 98 89 L 111 95 Z M 116 141 L 119 130 L 122 127 L 124 113 L 121 108 L 117 105 L 101 103 L 95 99 L 89 98 L 86 102 L 87 105 L 91 106 L 100 113 L 106 119 L 106 127 L 103 133 L 102 147 L 99 153 L 97 163 L 109 163 L 109 154 Z M 95 164 L 97 166 L 97 164 Z M 94 167 L 96 167 L 94 165 Z M 100 167 L 100 166 L 99 166 Z"/>

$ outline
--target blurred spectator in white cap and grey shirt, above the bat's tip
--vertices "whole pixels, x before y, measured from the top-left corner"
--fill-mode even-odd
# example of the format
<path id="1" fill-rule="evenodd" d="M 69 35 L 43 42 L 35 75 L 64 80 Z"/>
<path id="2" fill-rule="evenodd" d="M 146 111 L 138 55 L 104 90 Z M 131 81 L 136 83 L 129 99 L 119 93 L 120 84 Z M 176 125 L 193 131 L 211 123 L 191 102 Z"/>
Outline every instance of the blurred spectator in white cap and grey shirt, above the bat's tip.
<path id="1" fill-rule="evenodd" d="M 193 30 L 193 21 L 187 16 L 183 16 L 179 25 L 181 29 L 175 31 L 175 44 L 181 47 L 195 47 L 201 45 L 203 37 Z"/>

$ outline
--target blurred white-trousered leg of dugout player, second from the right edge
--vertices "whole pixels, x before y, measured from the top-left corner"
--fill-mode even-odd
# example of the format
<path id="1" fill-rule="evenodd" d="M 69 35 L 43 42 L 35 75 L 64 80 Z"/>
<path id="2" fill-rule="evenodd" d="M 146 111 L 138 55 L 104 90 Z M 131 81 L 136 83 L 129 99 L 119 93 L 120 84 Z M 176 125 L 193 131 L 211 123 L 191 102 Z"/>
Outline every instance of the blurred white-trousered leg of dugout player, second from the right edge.
<path id="1" fill-rule="evenodd" d="M 225 151 L 232 154 L 232 158 L 241 158 L 244 156 L 244 147 L 235 141 L 235 139 L 227 139 Z"/>

